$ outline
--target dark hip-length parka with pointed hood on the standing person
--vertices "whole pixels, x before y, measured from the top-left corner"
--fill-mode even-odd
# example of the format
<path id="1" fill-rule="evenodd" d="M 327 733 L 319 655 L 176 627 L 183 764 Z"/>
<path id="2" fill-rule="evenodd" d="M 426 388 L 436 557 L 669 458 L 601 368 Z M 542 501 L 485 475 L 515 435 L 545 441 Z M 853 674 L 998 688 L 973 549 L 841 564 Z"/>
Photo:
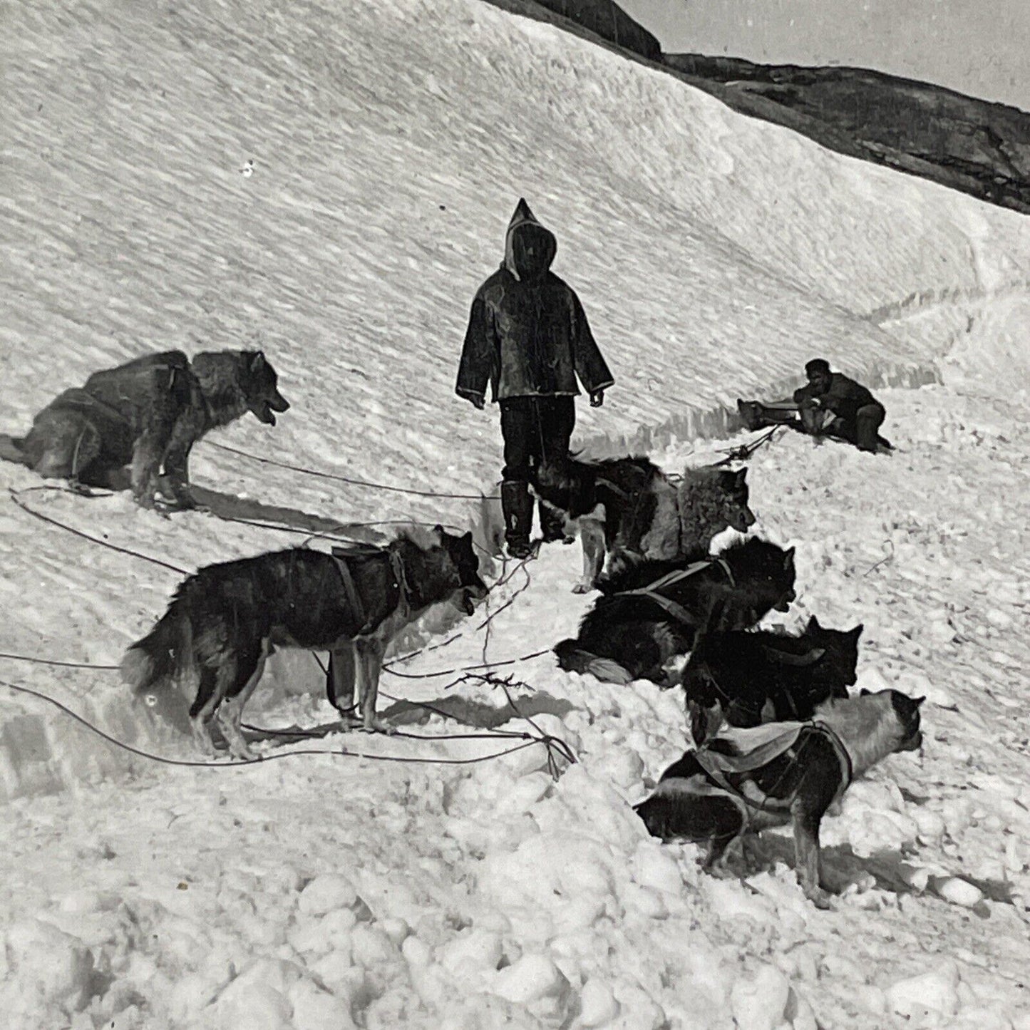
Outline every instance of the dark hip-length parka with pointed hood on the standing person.
<path id="1" fill-rule="evenodd" d="M 520 200 L 508 227 L 505 261 L 472 302 L 455 392 L 470 400 L 576 396 L 615 381 L 575 290 L 550 271 L 554 235 Z"/>

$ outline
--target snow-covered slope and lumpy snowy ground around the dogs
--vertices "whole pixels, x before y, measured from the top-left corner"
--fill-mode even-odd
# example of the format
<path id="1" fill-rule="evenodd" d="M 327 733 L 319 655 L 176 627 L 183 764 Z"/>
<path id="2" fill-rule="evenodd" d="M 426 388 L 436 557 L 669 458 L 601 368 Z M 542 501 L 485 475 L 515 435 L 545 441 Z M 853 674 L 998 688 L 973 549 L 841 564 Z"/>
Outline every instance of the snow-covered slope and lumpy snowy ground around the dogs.
<path id="1" fill-rule="evenodd" d="M 539 745 L 472 765 L 159 766 L 0 688 L 10 1025 L 1030 1026 L 1026 219 L 475 0 L 42 0 L 3 25 L 0 432 L 136 354 L 261 346 L 294 407 L 212 444 L 489 492 L 495 412 L 452 384 L 519 196 L 556 233 L 555 270 L 618 380 L 604 408 L 581 405 L 593 452 L 700 461 L 736 396 L 780 392 L 816 352 L 870 384 L 945 382 L 884 391 L 891 458 L 791 438 L 752 462 L 759 528 L 799 548 L 786 621 L 863 621 L 860 682 L 932 702 L 925 754 L 889 759 L 827 823 L 832 867 L 861 887 L 835 912 L 803 902 L 776 838 L 743 885 L 648 838 L 626 801 L 682 750 L 680 699 L 549 655 L 500 672 L 577 749 L 556 783 Z M 478 502 L 212 444 L 195 478 L 243 518 L 481 518 Z M 37 485 L 0 464 L 5 490 Z M 301 539 L 125 495 L 20 499 L 180 569 Z M 0 651 L 116 662 L 180 574 L 0 505 Z M 491 597 L 514 600 L 488 634 L 477 617 L 402 667 L 547 648 L 583 611 L 577 560 L 548 550 Z M 316 674 L 282 660 L 251 717 L 324 721 L 303 692 Z M 383 689 L 477 726 L 511 715 L 497 688 L 454 679 Z M 0 659 L 0 681 L 153 745 L 109 671 Z M 453 759 L 506 743 L 323 747 Z"/>

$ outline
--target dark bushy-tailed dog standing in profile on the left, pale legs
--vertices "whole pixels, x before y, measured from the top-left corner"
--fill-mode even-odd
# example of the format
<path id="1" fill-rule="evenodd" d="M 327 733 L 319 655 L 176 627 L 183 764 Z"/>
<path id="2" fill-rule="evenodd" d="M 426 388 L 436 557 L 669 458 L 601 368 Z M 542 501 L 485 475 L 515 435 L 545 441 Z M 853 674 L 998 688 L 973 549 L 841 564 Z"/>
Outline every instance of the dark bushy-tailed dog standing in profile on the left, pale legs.
<path id="1" fill-rule="evenodd" d="M 272 650 L 330 651 L 330 699 L 349 708 L 356 686 L 365 728 L 384 728 L 376 692 L 390 640 L 433 605 L 450 602 L 471 615 L 485 594 L 472 534 L 440 526 L 359 554 L 294 548 L 208 565 L 179 584 L 158 624 L 129 648 L 122 677 L 151 705 L 178 681 L 193 698 L 197 744 L 213 750 L 217 713 L 231 753 L 246 756 L 240 719 Z"/>

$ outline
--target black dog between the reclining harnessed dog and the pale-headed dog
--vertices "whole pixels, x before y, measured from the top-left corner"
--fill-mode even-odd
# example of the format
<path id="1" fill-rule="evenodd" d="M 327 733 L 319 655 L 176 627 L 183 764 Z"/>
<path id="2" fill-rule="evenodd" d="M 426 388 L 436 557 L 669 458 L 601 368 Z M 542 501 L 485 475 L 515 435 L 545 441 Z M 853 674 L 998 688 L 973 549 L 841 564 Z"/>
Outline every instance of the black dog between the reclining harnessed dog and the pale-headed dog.
<path id="1" fill-rule="evenodd" d="M 831 697 L 847 697 L 858 666 L 859 623 L 827 629 L 813 615 L 799 637 L 769 630 L 702 632 L 683 670 L 687 720 L 698 747 L 723 723 L 811 719 Z"/>

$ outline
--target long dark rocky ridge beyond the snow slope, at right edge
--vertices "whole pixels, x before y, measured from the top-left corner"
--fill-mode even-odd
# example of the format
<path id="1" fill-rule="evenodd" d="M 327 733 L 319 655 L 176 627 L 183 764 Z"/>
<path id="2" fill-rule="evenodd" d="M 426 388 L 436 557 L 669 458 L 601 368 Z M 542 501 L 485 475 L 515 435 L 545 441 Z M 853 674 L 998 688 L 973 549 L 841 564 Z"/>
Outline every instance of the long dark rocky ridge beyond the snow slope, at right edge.
<path id="1" fill-rule="evenodd" d="M 734 110 L 1030 213 L 1030 114 L 1016 107 L 863 68 L 756 65 L 696 54 L 663 60 Z"/>

